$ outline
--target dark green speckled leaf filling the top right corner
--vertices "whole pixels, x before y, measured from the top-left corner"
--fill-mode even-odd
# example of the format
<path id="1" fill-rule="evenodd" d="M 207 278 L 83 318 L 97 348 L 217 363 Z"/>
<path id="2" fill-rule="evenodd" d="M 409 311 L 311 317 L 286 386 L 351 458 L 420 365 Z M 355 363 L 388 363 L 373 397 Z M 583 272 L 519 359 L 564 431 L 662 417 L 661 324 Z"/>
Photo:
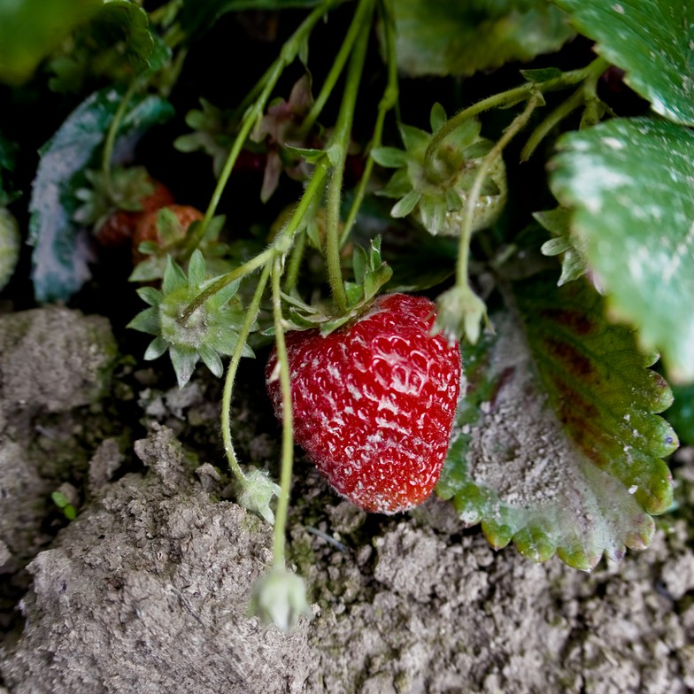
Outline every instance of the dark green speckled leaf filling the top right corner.
<path id="1" fill-rule="evenodd" d="M 687 0 L 555 0 L 653 111 L 694 125 L 694 4 Z"/>

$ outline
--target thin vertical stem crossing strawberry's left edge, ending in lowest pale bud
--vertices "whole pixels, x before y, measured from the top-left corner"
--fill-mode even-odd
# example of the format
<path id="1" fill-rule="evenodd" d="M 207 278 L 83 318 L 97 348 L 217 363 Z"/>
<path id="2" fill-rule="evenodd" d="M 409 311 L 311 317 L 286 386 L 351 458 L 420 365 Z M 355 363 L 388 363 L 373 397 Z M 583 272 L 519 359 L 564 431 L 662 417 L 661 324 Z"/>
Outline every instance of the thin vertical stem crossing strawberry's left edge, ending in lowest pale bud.
<path id="1" fill-rule="evenodd" d="M 291 405 L 291 382 L 289 379 L 289 359 L 287 344 L 284 341 L 284 318 L 281 311 L 281 272 L 282 262 L 274 258 L 272 270 L 274 343 L 282 394 L 282 448 L 280 495 L 277 499 L 277 512 L 274 521 L 273 559 L 274 567 L 284 567 L 285 529 L 289 510 L 289 491 L 291 471 L 294 466 L 294 419 Z"/>

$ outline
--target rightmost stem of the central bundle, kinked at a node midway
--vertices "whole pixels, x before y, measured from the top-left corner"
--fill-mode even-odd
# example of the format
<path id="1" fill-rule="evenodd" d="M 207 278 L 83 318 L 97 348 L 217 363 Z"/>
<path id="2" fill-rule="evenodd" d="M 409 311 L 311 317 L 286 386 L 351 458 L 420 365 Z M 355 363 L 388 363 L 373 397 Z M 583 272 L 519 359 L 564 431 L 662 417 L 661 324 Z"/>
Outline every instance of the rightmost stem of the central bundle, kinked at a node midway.
<path id="1" fill-rule="evenodd" d="M 368 156 L 368 152 L 373 150 L 375 147 L 381 146 L 383 126 L 385 124 L 386 116 L 388 115 L 390 109 L 397 105 L 397 59 L 395 53 L 395 27 L 391 2 L 392 0 L 381 0 L 379 3 L 381 6 L 383 39 L 387 57 L 386 60 L 388 63 L 388 83 L 385 91 L 383 92 L 381 101 L 378 104 L 378 112 L 376 114 L 376 121 L 374 123 L 374 135 L 371 138 L 371 142 L 368 144 L 366 150 L 364 173 L 362 174 L 359 185 L 354 192 L 354 200 L 352 201 L 347 219 L 344 222 L 343 233 L 340 238 L 340 247 L 347 242 L 347 239 L 350 236 L 351 228 L 354 226 L 354 222 L 357 220 L 359 208 L 361 207 L 366 195 L 366 186 L 368 185 L 368 181 L 371 178 L 371 173 L 374 170 L 375 162 L 373 158 Z"/>

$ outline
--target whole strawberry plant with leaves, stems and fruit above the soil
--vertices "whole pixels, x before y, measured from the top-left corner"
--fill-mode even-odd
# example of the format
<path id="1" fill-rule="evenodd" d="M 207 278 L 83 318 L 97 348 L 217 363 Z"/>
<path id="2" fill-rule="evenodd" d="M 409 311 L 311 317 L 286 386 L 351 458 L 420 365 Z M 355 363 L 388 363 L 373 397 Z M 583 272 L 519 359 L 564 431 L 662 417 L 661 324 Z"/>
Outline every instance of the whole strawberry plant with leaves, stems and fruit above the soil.
<path id="1" fill-rule="evenodd" d="M 181 388 L 198 362 L 224 378 L 235 499 L 274 522 L 259 614 L 307 613 L 285 558 L 295 444 L 369 512 L 436 491 L 536 561 L 649 544 L 673 505 L 668 381 L 691 431 L 690 4 L 53 5 L 0 10 L 0 283 L 10 209 L 37 303 L 98 281 L 95 239 L 135 222 L 135 266 L 113 262 L 148 305 L 143 359 L 168 353 Z M 239 37 L 251 9 L 281 30 Z M 32 99 L 60 105 L 36 142 Z M 279 483 L 231 436 L 241 360 L 268 352 Z"/>

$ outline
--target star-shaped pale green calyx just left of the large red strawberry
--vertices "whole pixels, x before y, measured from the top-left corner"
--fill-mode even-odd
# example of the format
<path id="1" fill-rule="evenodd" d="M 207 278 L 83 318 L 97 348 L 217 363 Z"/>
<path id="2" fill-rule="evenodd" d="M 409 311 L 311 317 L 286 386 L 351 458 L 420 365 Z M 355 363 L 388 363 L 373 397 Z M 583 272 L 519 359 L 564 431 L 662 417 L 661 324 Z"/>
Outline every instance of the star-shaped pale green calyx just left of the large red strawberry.
<path id="1" fill-rule="evenodd" d="M 212 374 L 221 377 L 220 355 L 231 354 L 238 341 L 245 314 L 235 297 L 237 281 L 212 294 L 186 317 L 189 305 L 217 279 L 206 278 L 203 254 L 195 251 L 188 276 L 169 258 L 161 291 L 152 287 L 137 290 L 150 308 L 138 313 L 127 327 L 155 335 L 144 359 L 157 359 L 168 351 L 181 388 L 201 359 Z M 250 347 L 244 347 L 243 356 L 253 356 Z"/>

